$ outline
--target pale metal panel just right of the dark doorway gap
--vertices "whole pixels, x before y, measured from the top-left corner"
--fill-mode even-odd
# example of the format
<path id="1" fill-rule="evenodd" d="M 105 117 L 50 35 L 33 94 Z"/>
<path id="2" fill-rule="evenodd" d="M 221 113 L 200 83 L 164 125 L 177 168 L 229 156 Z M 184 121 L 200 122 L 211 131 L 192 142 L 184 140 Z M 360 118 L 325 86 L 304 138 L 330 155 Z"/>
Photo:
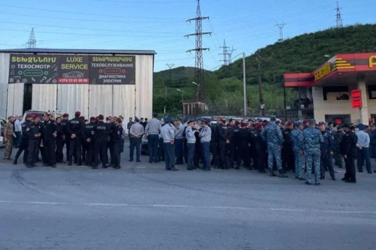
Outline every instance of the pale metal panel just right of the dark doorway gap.
<path id="1" fill-rule="evenodd" d="M 56 84 L 33 84 L 32 110 L 56 110 Z"/>

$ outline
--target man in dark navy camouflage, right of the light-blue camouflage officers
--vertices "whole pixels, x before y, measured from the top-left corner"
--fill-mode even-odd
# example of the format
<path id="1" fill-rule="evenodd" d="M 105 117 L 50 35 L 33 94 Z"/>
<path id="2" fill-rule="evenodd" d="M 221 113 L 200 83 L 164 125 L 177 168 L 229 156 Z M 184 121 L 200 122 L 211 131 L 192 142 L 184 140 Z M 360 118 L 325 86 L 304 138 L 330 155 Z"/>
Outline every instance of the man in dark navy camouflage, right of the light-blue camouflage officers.
<path id="1" fill-rule="evenodd" d="M 329 170 L 330 176 L 332 180 L 336 180 L 334 176 L 334 169 L 333 169 L 333 154 L 334 154 L 334 139 L 333 135 L 329 130 L 326 129 L 325 123 L 320 121 L 318 123 L 318 129 L 321 131 L 321 135 L 323 136 L 324 141 L 320 142 L 320 150 L 321 150 L 321 157 L 320 157 L 320 180 L 325 179 L 325 169 Z"/>

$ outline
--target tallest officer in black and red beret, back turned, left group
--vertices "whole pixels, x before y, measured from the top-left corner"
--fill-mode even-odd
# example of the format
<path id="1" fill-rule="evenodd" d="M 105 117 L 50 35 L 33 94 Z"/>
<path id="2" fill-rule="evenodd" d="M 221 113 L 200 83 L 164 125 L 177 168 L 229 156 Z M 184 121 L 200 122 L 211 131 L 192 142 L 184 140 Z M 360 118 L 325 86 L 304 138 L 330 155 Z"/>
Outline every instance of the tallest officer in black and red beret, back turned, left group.
<path id="1" fill-rule="evenodd" d="M 82 140 L 82 131 L 83 131 L 83 123 L 80 120 L 80 111 L 76 111 L 74 113 L 74 118 L 69 121 L 67 131 L 69 134 L 70 140 L 70 150 L 68 154 L 68 165 L 72 165 L 72 156 L 74 152 L 76 152 L 77 157 L 77 166 L 82 166 L 81 160 L 81 140 Z"/>

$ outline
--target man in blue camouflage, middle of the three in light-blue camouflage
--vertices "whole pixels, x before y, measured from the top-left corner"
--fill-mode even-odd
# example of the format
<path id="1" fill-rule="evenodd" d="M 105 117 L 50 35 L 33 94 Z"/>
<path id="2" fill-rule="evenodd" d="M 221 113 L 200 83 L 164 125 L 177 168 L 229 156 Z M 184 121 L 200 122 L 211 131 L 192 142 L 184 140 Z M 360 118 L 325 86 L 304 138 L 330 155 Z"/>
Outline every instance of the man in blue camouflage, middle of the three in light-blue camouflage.
<path id="1" fill-rule="evenodd" d="M 295 154 L 295 178 L 305 181 L 304 178 L 304 145 L 303 145 L 303 123 L 294 123 L 295 129 L 291 132 L 293 150 Z"/>

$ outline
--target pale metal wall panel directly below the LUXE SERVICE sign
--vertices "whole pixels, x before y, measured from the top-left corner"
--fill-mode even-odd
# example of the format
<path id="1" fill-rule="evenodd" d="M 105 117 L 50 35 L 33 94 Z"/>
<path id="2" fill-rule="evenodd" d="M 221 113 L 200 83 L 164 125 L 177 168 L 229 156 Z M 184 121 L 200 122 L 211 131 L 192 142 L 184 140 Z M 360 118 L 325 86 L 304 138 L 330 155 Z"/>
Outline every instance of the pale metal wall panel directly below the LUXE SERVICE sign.
<path id="1" fill-rule="evenodd" d="M 89 84 L 59 84 L 58 85 L 58 110 L 68 113 L 72 117 L 74 112 L 80 111 L 85 118 L 88 117 Z"/>

